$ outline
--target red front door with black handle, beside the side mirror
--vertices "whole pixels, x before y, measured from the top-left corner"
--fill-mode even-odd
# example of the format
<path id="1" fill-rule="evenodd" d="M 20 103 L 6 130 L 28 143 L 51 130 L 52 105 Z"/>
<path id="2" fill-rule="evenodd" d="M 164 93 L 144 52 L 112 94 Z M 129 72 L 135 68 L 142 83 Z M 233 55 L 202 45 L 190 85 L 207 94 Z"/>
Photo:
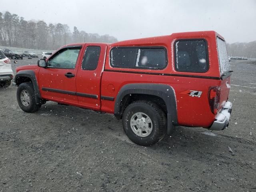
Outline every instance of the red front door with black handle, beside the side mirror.
<path id="1" fill-rule="evenodd" d="M 47 60 L 47 67 L 40 68 L 38 75 L 42 98 L 63 103 L 78 103 L 76 73 L 82 46 L 67 46 Z"/>

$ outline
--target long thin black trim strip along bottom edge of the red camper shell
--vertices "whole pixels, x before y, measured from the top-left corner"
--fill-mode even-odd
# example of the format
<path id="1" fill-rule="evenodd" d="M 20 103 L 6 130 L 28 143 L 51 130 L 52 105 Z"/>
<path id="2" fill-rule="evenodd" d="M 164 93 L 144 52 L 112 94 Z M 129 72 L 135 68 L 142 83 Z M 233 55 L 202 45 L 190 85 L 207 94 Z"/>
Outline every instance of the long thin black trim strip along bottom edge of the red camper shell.
<path id="1" fill-rule="evenodd" d="M 220 77 L 198 76 L 198 75 L 184 75 L 184 74 L 151 73 L 151 72 L 122 71 L 122 70 L 108 70 L 108 69 L 105 69 L 104 71 L 108 71 L 108 72 L 121 72 L 121 73 L 134 73 L 134 74 L 148 74 L 148 75 L 194 77 L 194 78 L 217 79 L 217 80 L 220 80 L 220 79 L 221 79 Z"/>

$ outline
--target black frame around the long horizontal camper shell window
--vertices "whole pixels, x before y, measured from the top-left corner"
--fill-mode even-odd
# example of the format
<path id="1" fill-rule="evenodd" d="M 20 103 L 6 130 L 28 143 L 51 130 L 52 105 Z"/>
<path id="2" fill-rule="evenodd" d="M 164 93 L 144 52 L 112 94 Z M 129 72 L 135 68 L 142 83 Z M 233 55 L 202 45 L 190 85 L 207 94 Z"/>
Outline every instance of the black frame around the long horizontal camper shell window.
<path id="1" fill-rule="evenodd" d="M 111 64 L 111 51 L 114 48 L 138 48 L 138 49 L 164 49 L 166 56 L 166 65 L 164 68 L 146 68 L 146 67 L 120 67 L 120 66 L 112 66 Z M 124 69 L 144 69 L 144 70 L 164 70 L 168 66 L 168 49 L 164 46 L 114 46 L 110 49 L 109 52 L 109 64 L 112 68 L 124 68 Z"/>

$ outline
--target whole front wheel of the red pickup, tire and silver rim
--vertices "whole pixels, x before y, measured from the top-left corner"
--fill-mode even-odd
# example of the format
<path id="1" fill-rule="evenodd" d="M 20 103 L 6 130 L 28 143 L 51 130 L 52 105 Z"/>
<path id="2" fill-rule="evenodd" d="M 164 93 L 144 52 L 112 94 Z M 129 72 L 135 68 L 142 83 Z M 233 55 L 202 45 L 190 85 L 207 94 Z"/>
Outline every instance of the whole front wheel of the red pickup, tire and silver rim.
<path id="1" fill-rule="evenodd" d="M 17 100 L 24 112 L 33 113 L 41 107 L 40 104 L 36 104 L 35 92 L 31 82 L 25 82 L 18 86 Z"/>

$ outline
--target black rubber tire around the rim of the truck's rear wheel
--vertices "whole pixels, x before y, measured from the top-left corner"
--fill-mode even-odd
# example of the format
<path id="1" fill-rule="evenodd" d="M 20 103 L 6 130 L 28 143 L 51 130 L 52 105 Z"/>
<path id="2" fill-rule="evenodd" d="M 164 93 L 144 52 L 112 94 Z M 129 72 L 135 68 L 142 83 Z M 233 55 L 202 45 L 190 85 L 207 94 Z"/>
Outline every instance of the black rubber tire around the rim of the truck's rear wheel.
<path id="1" fill-rule="evenodd" d="M 147 114 L 152 120 L 152 131 L 148 136 L 142 137 L 134 133 L 130 126 L 132 116 L 138 112 Z M 155 103 L 147 101 L 137 101 L 130 104 L 123 113 L 122 123 L 124 132 L 132 142 L 150 146 L 162 140 L 166 134 L 167 120 L 163 110 Z"/>

